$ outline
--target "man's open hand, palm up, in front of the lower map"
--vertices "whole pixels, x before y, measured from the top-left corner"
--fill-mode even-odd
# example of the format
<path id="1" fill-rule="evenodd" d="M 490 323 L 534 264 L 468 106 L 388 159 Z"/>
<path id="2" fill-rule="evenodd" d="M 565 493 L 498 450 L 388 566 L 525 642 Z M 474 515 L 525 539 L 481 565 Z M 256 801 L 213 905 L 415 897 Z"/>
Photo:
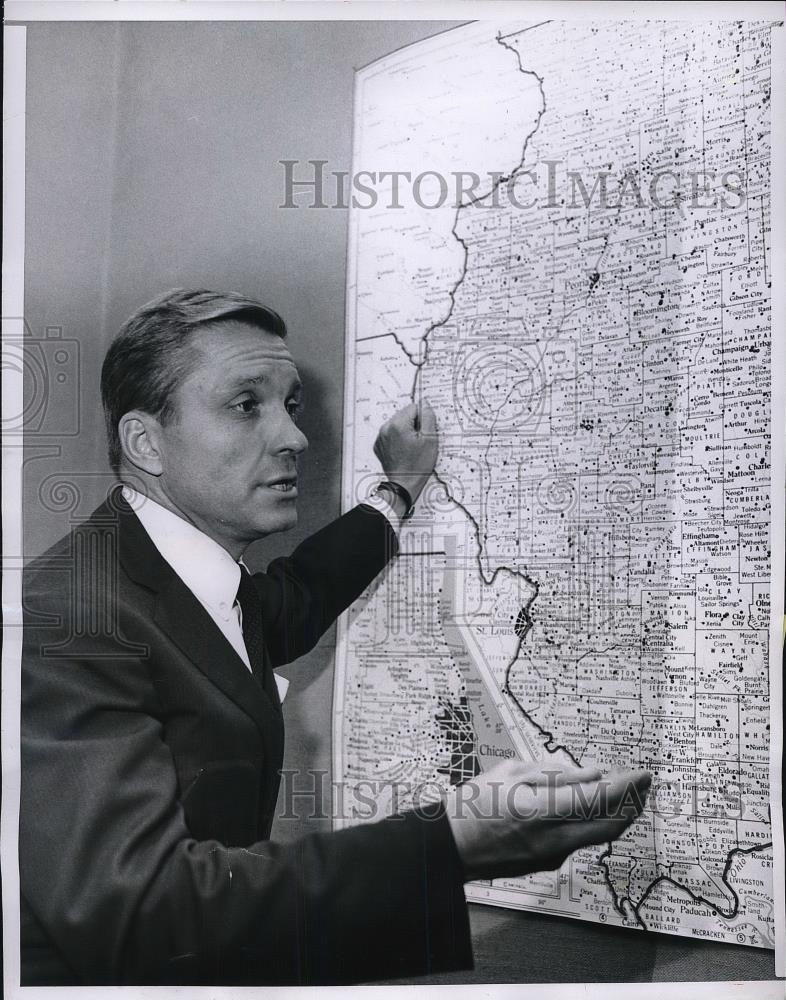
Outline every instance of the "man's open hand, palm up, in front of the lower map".
<path id="1" fill-rule="evenodd" d="M 559 868 L 579 847 L 615 840 L 644 807 L 647 771 L 505 761 L 458 786 L 447 804 L 467 879 Z"/>

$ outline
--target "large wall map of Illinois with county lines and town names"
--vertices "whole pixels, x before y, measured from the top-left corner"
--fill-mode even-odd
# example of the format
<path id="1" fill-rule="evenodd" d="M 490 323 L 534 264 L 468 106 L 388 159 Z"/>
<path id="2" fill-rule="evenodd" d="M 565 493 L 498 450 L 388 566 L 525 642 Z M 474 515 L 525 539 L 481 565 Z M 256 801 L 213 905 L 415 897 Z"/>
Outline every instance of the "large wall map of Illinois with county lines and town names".
<path id="1" fill-rule="evenodd" d="M 486 183 L 352 213 L 347 503 L 408 398 L 441 451 L 341 629 L 337 776 L 655 774 L 620 841 L 471 899 L 773 947 L 771 30 L 472 25 L 358 78 L 356 170 Z"/>

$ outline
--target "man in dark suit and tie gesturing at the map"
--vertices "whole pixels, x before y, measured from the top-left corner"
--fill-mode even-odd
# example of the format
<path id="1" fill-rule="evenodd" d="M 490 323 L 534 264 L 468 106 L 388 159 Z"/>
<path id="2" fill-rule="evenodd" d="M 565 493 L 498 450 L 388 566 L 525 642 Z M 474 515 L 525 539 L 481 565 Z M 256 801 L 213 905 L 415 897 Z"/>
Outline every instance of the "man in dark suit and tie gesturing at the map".
<path id="1" fill-rule="evenodd" d="M 273 667 L 384 568 L 437 454 L 428 406 L 403 410 L 375 447 L 380 495 L 250 576 L 246 547 L 297 517 L 306 439 L 285 332 L 258 302 L 181 290 L 132 316 L 107 354 L 124 485 L 26 576 L 23 985 L 467 968 L 464 880 L 553 868 L 641 808 L 645 774 L 608 781 L 605 813 L 582 818 L 598 772 L 507 764 L 452 815 L 441 803 L 268 840 L 283 753 Z"/>

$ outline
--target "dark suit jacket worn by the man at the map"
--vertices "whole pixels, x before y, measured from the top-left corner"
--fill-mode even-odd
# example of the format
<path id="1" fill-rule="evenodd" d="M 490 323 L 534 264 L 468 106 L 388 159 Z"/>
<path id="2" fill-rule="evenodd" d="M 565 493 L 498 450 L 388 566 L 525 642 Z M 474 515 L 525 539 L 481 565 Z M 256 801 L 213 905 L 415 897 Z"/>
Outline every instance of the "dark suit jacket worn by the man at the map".
<path id="1" fill-rule="evenodd" d="M 273 664 L 395 536 L 356 507 L 254 577 Z M 471 967 L 441 809 L 267 838 L 283 725 L 119 491 L 31 565 L 22 662 L 22 984 L 349 983 Z M 272 675 L 270 675 L 272 681 Z"/>

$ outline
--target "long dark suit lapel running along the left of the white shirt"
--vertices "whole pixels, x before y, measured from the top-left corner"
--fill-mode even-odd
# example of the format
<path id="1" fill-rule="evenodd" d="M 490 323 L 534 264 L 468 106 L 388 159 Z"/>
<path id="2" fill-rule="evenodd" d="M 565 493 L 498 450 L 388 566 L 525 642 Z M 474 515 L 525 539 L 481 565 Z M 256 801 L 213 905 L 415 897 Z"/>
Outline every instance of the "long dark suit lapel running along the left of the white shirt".
<path id="1" fill-rule="evenodd" d="M 219 690 L 256 722 L 272 759 L 283 738 L 280 704 L 266 692 L 216 623 L 159 553 L 118 489 L 119 555 L 126 573 L 156 593 L 154 620 Z M 280 753 L 280 749 L 279 749 Z"/>

